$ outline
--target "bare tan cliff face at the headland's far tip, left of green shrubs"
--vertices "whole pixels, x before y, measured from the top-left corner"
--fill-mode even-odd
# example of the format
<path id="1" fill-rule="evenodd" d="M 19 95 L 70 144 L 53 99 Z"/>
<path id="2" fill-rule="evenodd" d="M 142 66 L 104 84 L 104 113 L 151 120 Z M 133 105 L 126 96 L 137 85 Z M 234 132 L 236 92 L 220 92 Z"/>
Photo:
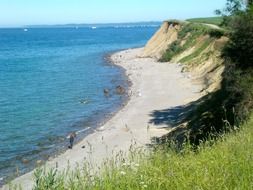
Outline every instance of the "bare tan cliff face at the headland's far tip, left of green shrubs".
<path id="1" fill-rule="evenodd" d="M 148 41 L 141 57 L 160 59 L 168 46 L 177 40 L 179 22 L 165 21 L 155 35 Z"/>

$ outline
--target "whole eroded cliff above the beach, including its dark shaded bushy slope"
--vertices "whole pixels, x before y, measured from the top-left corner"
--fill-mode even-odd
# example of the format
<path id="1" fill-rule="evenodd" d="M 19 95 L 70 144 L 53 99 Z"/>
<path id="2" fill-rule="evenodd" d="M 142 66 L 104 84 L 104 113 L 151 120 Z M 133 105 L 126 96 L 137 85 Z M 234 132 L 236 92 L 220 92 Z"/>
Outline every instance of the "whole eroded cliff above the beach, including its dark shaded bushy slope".
<path id="1" fill-rule="evenodd" d="M 159 40 L 165 38 L 162 31 L 166 31 L 166 26 L 174 25 L 176 27 L 169 27 L 167 30 L 173 38 L 167 36 L 167 48 L 161 43 L 164 47 L 162 51 L 160 48 L 154 49 L 153 44 L 156 43 L 157 47 L 161 47 Z M 167 35 L 170 32 L 167 32 Z M 231 32 L 227 29 L 211 24 L 173 24 L 167 21 L 146 45 L 144 54 L 147 50 L 154 50 L 149 56 L 165 64 L 180 64 L 185 76 L 202 86 L 201 97 L 183 105 L 181 111 L 184 116 L 180 117 L 178 127 L 164 138 L 166 141 L 176 139 L 184 142 L 187 139 L 198 145 L 210 138 L 210 135 L 224 133 L 226 126 L 230 128 L 238 125 L 238 121 L 249 115 L 252 107 L 252 75 L 250 72 L 241 75 L 241 68 L 236 68 L 235 64 L 231 63 L 231 54 L 233 57 L 235 52 L 228 53 L 229 45 L 234 45 L 230 35 Z"/>

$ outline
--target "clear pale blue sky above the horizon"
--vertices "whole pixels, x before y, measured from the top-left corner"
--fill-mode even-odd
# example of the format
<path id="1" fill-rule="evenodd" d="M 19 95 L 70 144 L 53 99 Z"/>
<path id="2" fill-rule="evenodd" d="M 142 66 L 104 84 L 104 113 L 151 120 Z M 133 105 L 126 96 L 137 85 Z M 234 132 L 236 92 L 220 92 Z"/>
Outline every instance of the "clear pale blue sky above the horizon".
<path id="1" fill-rule="evenodd" d="M 0 27 L 215 16 L 226 0 L 0 0 Z"/>

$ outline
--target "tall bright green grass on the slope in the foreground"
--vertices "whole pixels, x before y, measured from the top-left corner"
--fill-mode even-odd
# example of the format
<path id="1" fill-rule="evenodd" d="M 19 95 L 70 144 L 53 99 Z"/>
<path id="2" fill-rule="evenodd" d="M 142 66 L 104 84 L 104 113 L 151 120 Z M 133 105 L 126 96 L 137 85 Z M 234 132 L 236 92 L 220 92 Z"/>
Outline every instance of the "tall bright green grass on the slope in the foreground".
<path id="1" fill-rule="evenodd" d="M 129 161 L 107 161 L 100 174 L 37 170 L 34 190 L 253 189 L 253 117 L 239 130 L 207 141 L 193 151 L 159 148 L 132 152 Z"/>

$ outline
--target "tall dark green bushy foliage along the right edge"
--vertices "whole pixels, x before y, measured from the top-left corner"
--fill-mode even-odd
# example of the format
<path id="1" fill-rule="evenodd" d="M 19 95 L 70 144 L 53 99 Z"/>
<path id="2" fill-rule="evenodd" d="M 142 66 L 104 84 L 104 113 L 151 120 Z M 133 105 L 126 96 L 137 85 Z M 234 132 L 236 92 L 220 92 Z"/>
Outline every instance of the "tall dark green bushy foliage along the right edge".
<path id="1" fill-rule="evenodd" d="M 223 50 L 225 87 L 228 102 L 234 104 L 236 116 L 243 121 L 253 109 L 253 6 L 236 12 L 228 27 L 230 40 Z"/>

